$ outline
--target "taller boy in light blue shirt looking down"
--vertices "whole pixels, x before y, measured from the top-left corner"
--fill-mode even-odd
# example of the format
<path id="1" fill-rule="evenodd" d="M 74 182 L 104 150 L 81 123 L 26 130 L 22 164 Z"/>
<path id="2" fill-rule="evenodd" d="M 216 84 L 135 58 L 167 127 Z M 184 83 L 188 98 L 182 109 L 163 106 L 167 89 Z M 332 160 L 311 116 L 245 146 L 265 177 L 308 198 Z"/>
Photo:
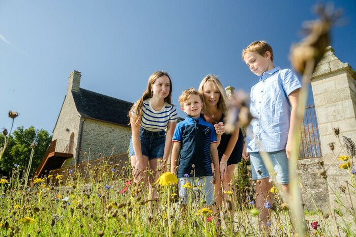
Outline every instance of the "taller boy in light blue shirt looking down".
<path id="1" fill-rule="evenodd" d="M 256 208 L 260 210 L 260 228 L 265 228 L 270 224 L 272 184 L 259 152 L 269 153 L 277 182 L 288 192 L 288 158 L 301 84 L 292 70 L 274 66 L 272 47 L 265 41 L 252 42 L 242 51 L 242 58 L 251 72 L 259 76 L 259 82 L 251 88 L 250 109 L 255 119 L 247 132 L 243 157 L 251 159 L 252 179 L 258 180 Z"/>

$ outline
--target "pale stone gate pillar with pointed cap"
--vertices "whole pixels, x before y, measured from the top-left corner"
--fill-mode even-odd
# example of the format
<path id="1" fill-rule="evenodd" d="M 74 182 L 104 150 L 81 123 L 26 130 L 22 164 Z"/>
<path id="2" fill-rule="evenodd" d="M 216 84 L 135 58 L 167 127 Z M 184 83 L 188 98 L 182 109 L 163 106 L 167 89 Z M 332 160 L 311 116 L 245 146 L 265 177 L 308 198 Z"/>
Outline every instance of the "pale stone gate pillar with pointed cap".
<path id="1" fill-rule="evenodd" d="M 341 147 L 333 128 L 340 129 L 341 141 L 344 135 L 356 142 L 355 78 L 355 71 L 348 63 L 342 63 L 335 56 L 331 46 L 327 48 L 311 78 L 324 167 L 330 165 L 327 175 L 331 186 L 329 196 L 332 205 L 335 195 L 331 188 L 340 193 L 340 185 L 345 185 L 344 180 L 350 180 L 346 170 L 338 168 L 342 162 L 335 161 Z M 335 142 L 334 154 L 329 147 L 331 142 Z M 347 154 L 342 151 L 340 155 Z"/>

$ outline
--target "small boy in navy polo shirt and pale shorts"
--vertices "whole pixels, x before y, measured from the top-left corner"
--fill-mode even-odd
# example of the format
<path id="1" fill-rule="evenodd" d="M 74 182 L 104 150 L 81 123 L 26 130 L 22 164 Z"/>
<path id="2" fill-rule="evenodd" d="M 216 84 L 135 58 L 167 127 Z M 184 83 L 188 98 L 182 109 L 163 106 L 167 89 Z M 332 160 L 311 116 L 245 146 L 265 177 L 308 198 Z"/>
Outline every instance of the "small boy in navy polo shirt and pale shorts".
<path id="1" fill-rule="evenodd" d="M 207 205 L 214 203 L 213 184 L 220 179 L 217 138 L 213 125 L 200 118 L 203 98 L 197 90 L 190 88 L 179 97 L 181 109 L 187 113 L 184 121 L 177 124 L 172 141 L 170 171 L 175 173 L 176 162 L 181 155 L 178 166 L 180 197 L 187 202 L 187 185 L 203 186 L 204 201 Z M 212 165 L 216 172 L 212 171 Z"/>

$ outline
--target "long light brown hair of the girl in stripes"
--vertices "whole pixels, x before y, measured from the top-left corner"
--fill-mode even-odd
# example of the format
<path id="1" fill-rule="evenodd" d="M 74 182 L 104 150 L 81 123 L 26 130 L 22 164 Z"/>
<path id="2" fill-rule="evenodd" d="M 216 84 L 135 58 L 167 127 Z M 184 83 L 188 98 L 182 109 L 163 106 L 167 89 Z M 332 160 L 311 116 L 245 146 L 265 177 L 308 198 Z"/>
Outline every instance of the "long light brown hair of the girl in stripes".
<path id="1" fill-rule="evenodd" d="M 167 76 L 169 79 L 169 93 L 166 96 L 166 98 L 164 98 L 164 101 L 167 102 L 168 104 L 171 104 L 171 95 L 172 95 L 172 81 L 168 75 L 168 73 L 164 72 L 164 71 L 157 71 L 154 72 L 150 78 L 149 81 L 147 82 L 147 88 L 146 90 L 143 92 L 141 98 L 136 101 L 133 106 L 131 107 L 128 116 L 130 117 L 130 123 L 131 124 L 131 119 L 133 119 L 133 122 L 135 124 L 135 126 L 139 126 L 141 123 L 141 119 L 142 119 L 142 105 L 143 105 L 143 101 L 149 98 L 152 98 L 153 96 L 153 92 L 151 90 L 151 86 L 155 83 L 155 81 L 157 80 L 157 78 L 160 78 L 162 76 Z M 132 112 L 133 111 L 133 112 Z M 134 115 L 133 115 L 134 113 Z"/>

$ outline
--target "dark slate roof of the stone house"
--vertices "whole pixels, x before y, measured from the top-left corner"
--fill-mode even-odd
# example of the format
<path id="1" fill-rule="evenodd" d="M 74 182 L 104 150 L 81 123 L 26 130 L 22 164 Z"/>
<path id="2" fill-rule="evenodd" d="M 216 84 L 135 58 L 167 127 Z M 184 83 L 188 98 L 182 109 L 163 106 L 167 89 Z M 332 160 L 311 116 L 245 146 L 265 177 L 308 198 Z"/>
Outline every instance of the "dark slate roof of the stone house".
<path id="1" fill-rule="evenodd" d="M 72 91 L 79 114 L 88 119 L 128 126 L 127 116 L 133 103 L 105 96 L 83 88 L 79 92 Z"/>

